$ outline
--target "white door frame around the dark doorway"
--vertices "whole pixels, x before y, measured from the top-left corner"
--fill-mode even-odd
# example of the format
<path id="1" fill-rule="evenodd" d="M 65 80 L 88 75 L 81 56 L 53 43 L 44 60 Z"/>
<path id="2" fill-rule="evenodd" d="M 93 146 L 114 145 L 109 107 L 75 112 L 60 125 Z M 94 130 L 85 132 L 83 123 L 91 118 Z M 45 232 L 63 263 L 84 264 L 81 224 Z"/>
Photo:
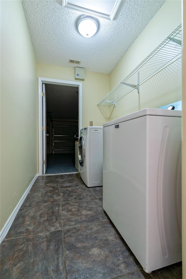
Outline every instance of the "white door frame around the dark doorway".
<path id="1" fill-rule="evenodd" d="M 82 129 L 82 82 L 78 81 L 63 81 L 60 79 L 53 78 L 42 78 L 38 77 L 38 164 L 39 164 L 39 176 L 43 174 L 43 131 L 42 131 L 42 120 L 43 120 L 43 104 L 42 104 L 42 85 L 43 83 L 57 84 L 74 86 L 79 88 L 78 94 L 78 105 L 79 105 L 79 121 L 78 128 L 79 133 Z"/>

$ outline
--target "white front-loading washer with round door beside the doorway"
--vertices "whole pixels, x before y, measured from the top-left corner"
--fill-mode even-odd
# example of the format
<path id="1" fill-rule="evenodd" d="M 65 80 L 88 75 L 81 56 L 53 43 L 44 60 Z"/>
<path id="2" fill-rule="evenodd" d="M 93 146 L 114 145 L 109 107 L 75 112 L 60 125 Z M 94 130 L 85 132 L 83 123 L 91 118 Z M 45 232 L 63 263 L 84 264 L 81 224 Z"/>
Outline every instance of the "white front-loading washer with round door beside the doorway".
<path id="1" fill-rule="evenodd" d="M 88 126 L 80 131 L 79 172 L 87 187 L 103 185 L 103 127 Z"/>

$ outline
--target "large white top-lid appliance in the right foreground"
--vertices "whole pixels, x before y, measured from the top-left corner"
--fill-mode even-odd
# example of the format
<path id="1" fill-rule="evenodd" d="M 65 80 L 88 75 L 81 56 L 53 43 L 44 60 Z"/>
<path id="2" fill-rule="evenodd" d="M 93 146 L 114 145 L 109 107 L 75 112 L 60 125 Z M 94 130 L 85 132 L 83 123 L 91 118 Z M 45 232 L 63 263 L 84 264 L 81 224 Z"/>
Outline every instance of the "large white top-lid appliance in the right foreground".
<path id="1" fill-rule="evenodd" d="M 144 271 L 181 257 L 181 111 L 103 124 L 103 208 Z"/>

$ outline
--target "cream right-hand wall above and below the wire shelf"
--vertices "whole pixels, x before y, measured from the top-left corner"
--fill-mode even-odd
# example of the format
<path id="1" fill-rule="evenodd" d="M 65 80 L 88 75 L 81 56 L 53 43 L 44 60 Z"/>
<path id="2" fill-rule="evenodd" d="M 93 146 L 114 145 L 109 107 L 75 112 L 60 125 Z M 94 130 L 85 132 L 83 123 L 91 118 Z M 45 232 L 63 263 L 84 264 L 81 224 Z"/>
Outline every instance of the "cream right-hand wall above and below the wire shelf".
<path id="1" fill-rule="evenodd" d="M 181 24 L 181 0 L 167 0 L 110 73 L 111 91 Z M 167 76 L 169 80 L 167 80 Z M 181 59 L 140 85 L 110 109 L 110 120 L 181 100 Z"/>

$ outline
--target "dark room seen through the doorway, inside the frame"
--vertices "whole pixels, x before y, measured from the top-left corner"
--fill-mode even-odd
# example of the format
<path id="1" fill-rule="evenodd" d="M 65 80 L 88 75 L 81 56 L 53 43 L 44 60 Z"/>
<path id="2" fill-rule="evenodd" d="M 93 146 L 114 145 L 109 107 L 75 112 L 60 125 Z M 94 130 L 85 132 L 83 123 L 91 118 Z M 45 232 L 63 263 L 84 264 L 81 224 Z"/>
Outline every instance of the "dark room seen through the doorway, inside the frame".
<path id="1" fill-rule="evenodd" d="M 76 172 L 79 88 L 45 84 L 47 165 L 45 174 Z"/>

